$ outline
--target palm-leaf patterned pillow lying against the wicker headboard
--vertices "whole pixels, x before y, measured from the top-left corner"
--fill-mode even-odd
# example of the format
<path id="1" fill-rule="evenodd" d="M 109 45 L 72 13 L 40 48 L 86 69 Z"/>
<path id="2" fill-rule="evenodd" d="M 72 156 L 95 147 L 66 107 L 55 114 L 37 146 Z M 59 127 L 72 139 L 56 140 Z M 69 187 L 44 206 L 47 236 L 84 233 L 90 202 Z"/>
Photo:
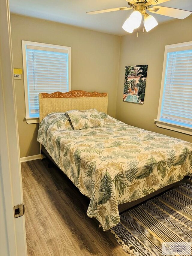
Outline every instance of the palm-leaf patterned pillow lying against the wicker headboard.
<path id="1" fill-rule="evenodd" d="M 69 116 L 74 130 L 104 126 L 104 121 L 95 108 L 89 110 L 69 110 L 66 114 Z"/>

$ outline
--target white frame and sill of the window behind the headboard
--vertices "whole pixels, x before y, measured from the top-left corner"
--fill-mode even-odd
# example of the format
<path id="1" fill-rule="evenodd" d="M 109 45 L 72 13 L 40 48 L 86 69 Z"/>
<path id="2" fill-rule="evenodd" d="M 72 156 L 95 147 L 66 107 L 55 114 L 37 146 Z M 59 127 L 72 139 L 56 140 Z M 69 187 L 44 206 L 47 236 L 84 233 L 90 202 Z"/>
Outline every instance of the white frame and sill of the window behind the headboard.
<path id="1" fill-rule="evenodd" d="M 30 45 L 32 47 L 43 47 L 50 49 L 67 50 L 68 53 L 68 90 L 71 91 L 71 47 L 61 46 L 55 44 L 45 44 L 32 41 L 22 40 L 22 61 L 23 61 L 23 82 L 24 82 L 24 93 L 25 93 L 25 111 L 26 111 L 26 122 L 28 124 L 39 123 L 39 117 L 30 117 L 29 113 L 29 94 L 28 94 L 28 79 L 27 79 L 27 61 L 26 61 L 26 47 Z"/>

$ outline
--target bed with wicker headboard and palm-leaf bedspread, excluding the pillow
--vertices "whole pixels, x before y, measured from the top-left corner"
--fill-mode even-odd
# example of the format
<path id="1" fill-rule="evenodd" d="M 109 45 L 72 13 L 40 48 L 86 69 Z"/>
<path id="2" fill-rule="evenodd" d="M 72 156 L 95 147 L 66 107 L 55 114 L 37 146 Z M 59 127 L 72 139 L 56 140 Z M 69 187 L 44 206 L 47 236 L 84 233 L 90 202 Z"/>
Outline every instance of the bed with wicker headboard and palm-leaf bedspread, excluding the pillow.
<path id="1" fill-rule="evenodd" d="M 107 115 L 107 102 L 107 93 L 98 92 L 39 95 L 41 153 L 90 198 L 87 215 L 104 231 L 127 205 L 192 176 L 191 143 L 120 122 Z M 104 125 L 74 130 L 65 112 L 93 108 Z"/>

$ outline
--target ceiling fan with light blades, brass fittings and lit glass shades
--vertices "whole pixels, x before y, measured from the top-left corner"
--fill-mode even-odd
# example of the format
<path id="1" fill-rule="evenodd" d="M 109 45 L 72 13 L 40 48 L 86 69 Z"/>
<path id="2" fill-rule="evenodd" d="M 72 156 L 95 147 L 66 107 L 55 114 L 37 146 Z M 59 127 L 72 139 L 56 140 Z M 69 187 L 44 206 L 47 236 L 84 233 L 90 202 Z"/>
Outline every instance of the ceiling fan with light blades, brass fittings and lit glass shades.
<path id="1" fill-rule="evenodd" d="M 119 10 L 125 11 L 125 10 L 133 9 L 132 14 L 127 20 L 125 20 L 122 26 L 122 28 L 125 31 L 132 33 L 134 29 L 139 28 L 142 20 L 142 15 L 144 16 L 144 28 L 147 32 L 158 25 L 158 22 L 155 20 L 155 18 L 146 12 L 147 10 L 151 13 L 169 16 L 169 17 L 177 18 L 181 20 L 186 18 L 192 13 L 191 11 L 158 6 L 158 4 L 168 2 L 170 0 L 125 0 L 125 1 L 128 2 L 128 7 L 117 7 L 117 8 L 111 8 L 106 10 L 91 11 L 91 12 L 87 12 L 87 14 L 99 14 L 99 13 L 105 13 L 105 12 L 112 12 L 112 11 L 119 11 Z M 154 6 L 151 7 L 151 5 L 154 5 Z"/>

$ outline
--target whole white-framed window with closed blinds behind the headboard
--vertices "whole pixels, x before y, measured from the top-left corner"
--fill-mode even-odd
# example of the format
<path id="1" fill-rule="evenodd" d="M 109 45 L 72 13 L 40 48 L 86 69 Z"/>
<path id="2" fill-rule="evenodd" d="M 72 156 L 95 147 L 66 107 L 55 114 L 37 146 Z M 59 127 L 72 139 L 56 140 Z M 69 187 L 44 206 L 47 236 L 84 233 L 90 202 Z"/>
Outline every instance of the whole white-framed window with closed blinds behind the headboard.
<path id="1" fill-rule="evenodd" d="M 71 90 L 70 47 L 22 41 L 26 122 L 39 122 L 39 93 Z"/>

